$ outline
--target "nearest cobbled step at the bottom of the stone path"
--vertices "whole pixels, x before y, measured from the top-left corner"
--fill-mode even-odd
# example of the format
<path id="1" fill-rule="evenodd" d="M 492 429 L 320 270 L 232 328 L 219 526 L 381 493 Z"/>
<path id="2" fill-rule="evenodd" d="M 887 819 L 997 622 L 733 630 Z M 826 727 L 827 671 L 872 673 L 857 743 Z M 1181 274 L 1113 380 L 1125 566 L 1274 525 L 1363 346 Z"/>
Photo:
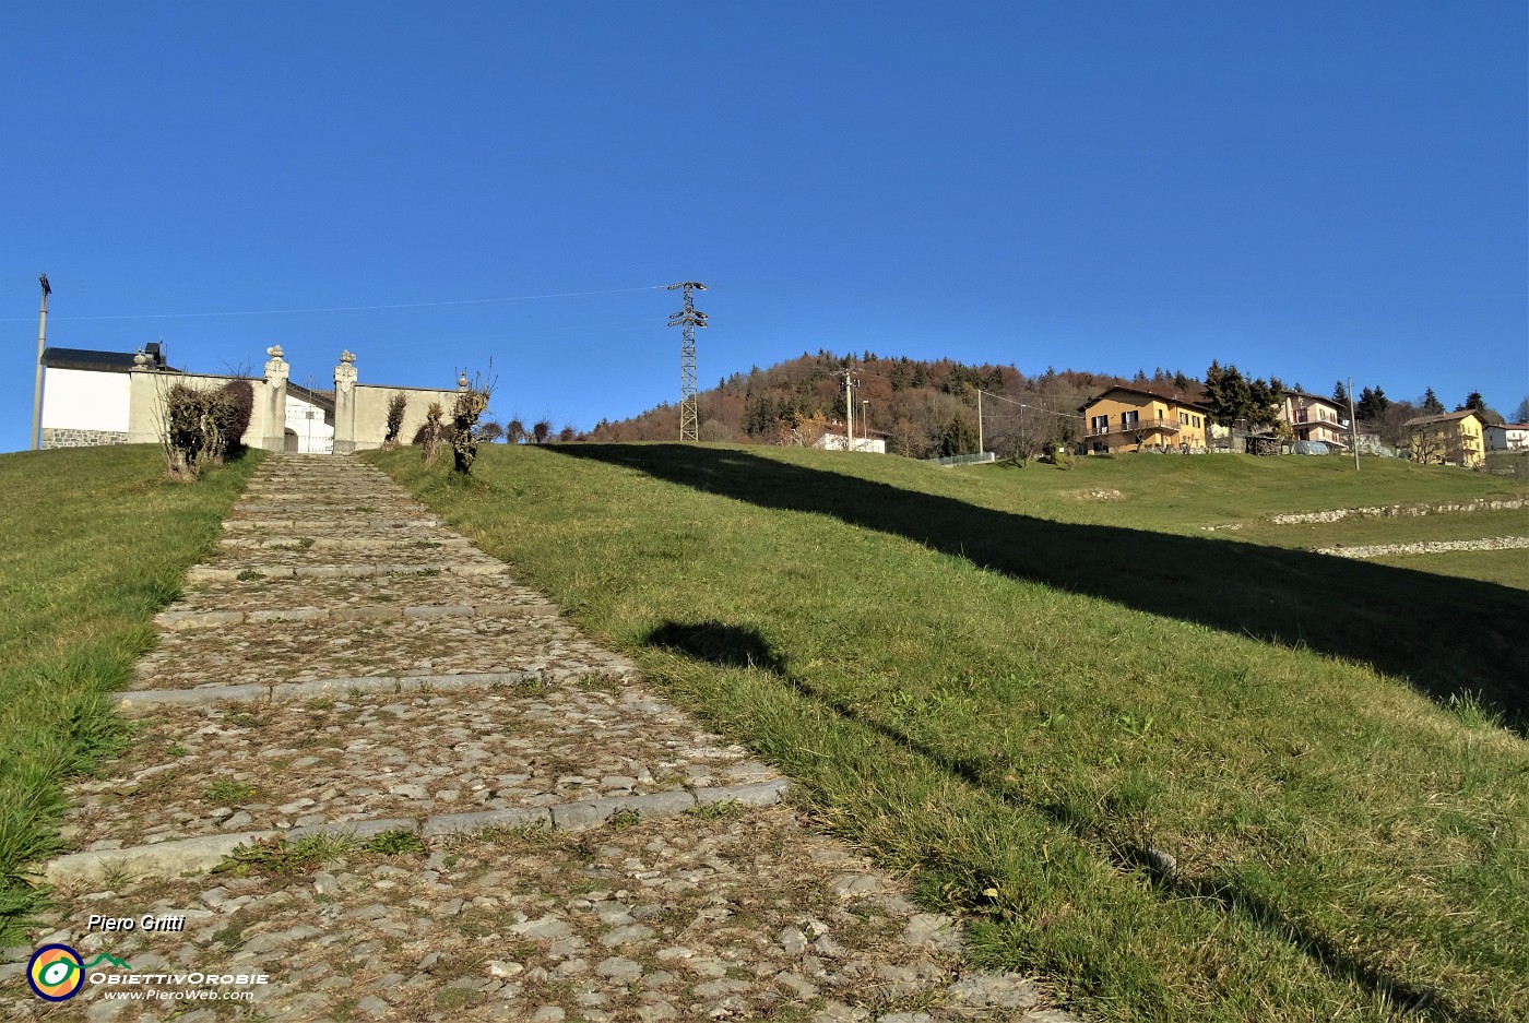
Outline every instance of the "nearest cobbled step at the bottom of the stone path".
<path id="1" fill-rule="evenodd" d="M 953 971 L 954 921 L 922 913 L 905 884 L 784 806 L 498 829 L 280 876 L 115 875 L 115 895 L 102 888 L 61 885 L 49 939 L 110 950 L 141 976 L 268 974 L 237 1011 L 258 1018 L 827 1023 L 875 1006 L 899 1023 L 1073 1020 L 1026 976 Z M 109 911 L 183 928 L 89 930 Z M 31 948 L 17 954 L 23 969 Z M 37 1014 L 20 980 L 0 991 L 0 1015 Z"/>

